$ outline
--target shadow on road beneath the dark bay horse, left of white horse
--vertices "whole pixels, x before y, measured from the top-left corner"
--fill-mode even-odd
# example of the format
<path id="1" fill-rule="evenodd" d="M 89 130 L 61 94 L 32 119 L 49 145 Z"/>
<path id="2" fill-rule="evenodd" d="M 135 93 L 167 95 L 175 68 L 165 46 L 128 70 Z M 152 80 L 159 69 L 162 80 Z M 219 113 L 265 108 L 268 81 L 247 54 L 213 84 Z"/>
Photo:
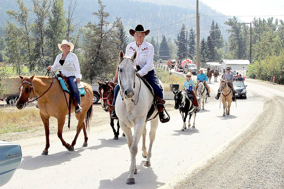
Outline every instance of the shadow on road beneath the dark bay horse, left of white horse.
<path id="1" fill-rule="evenodd" d="M 87 149 L 91 149 L 91 150 L 97 150 L 97 149 L 101 149 L 104 147 L 110 147 L 110 148 L 118 148 L 121 147 L 125 144 L 127 144 L 127 140 L 125 136 L 121 136 L 119 137 L 118 140 L 114 140 L 114 139 L 98 139 L 101 141 L 100 145 L 97 146 L 91 146 L 88 147 Z"/>

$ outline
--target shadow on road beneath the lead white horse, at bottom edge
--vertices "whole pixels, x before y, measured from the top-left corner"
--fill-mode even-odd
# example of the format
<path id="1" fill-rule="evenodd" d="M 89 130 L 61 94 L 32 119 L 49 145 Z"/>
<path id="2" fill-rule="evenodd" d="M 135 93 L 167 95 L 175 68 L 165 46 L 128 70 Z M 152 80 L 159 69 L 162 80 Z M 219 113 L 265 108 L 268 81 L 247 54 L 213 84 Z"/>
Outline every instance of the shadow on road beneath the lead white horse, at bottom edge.
<path id="1" fill-rule="evenodd" d="M 151 188 L 156 189 L 165 183 L 157 182 L 157 175 L 154 173 L 151 167 L 144 167 L 144 161 L 141 162 L 140 165 L 137 165 L 137 174 L 135 177 L 135 184 L 128 185 L 126 184 L 127 177 L 129 172 L 122 173 L 119 177 L 110 180 L 100 180 L 99 189 L 105 188 L 125 188 L 125 189 L 135 189 L 135 188 Z M 127 168 L 128 169 L 128 168 Z"/>

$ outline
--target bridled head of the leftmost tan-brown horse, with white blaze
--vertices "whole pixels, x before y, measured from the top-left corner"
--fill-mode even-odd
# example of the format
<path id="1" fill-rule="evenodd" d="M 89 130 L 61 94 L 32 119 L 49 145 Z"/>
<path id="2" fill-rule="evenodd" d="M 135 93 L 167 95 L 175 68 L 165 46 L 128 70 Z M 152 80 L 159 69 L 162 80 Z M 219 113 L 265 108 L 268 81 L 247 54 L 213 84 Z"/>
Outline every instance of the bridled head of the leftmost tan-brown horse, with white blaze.
<path id="1" fill-rule="evenodd" d="M 17 100 L 17 108 L 19 110 L 24 108 L 24 105 L 26 102 L 28 102 L 28 100 L 32 99 L 35 95 L 34 91 L 33 91 L 33 78 L 35 75 L 33 75 L 32 77 L 28 78 L 28 77 L 22 77 L 20 75 L 18 75 L 20 77 L 20 79 L 22 80 L 19 90 L 20 90 L 20 95 L 19 98 Z"/>

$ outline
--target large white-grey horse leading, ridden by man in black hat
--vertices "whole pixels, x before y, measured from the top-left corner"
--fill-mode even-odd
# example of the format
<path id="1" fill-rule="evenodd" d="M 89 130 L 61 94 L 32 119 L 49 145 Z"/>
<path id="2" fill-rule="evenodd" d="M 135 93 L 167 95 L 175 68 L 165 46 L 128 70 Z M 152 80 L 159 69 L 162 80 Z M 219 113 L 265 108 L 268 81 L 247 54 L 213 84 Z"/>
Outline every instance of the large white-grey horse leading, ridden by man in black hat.
<path id="1" fill-rule="evenodd" d="M 150 145 L 148 153 L 146 151 L 146 117 L 151 108 L 154 97 L 143 81 L 136 76 L 136 66 L 134 60 L 136 51 L 131 57 L 124 56 L 122 50 L 119 53 L 120 64 L 118 65 L 118 84 L 120 94 L 115 102 L 115 111 L 119 118 L 120 128 L 124 132 L 131 154 L 131 164 L 126 184 L 135 184 L 134 174 L 137 173 L 136 154 L 139 139 L 143 139 L 142 156 L 146 158 L 144 166 L 151 166 L 150 158 L 152 145 L 155 140 L 155 133 L 158 126 L 158 116 L 151 120 L 151 130 L 149 133 Z M 154 111 L 151 118 L 157 114 Z M 150 119 L 151 119 L 150 118 Z M 132 136 L 131 128 L 134 127 Z"/>

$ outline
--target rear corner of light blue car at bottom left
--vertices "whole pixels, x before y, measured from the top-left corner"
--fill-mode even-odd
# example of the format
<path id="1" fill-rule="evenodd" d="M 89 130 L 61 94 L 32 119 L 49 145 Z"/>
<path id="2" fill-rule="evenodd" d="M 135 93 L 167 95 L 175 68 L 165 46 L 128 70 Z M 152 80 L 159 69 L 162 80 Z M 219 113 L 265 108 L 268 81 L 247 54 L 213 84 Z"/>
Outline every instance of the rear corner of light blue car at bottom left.
<path id="1" fill-rule="evenodd" d="M 0 141 L 0 187 L 9 182 L 22 161 L 19 144 Z"/>

